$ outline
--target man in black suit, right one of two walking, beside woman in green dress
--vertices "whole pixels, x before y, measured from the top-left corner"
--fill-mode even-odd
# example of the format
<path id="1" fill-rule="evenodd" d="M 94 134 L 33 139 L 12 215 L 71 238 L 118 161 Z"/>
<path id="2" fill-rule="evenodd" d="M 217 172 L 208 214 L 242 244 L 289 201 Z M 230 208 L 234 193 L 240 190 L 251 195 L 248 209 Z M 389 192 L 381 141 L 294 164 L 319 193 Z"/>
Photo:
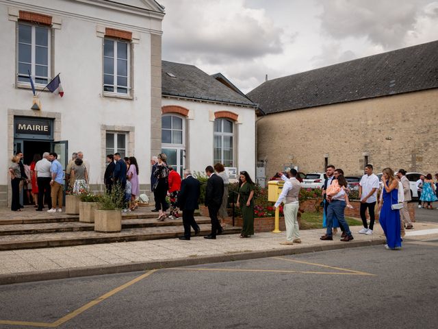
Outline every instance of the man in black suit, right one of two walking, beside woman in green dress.
<path id="1" fill-rule="evenodd" d="M 208 207 L 211 219 L 211 234 L 204 236 L 204 238 L 216 239 L 216 232 L 218 232 L 218 230 L 220 231 L 218 211 L 222 204 L 222 196 L 224 195 L 224 181 L 214 173 L 214 169 L 211 166 L 205 168 L 205 173 L 207 173 L 209 177 L 205 191 L 205 206 Z"/>

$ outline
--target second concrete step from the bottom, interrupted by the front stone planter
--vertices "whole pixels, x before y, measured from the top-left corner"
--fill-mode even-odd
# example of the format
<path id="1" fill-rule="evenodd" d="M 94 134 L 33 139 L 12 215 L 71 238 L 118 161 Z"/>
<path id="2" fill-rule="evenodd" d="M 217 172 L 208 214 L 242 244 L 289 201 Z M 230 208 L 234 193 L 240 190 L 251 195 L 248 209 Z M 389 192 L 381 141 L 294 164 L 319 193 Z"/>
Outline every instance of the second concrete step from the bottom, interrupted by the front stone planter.
<path id="1" fill-rule="evenodd" d="M 211 223 L 209 217 L 196 217 L 199 224 Z M 122 219 L 122 228 L 153 228 L 163 226 L 182 226 L 182 219 Z M 0 236 L 12 234 L 40 234 L 56 232 L 79 232 L 94 230 L 94 223 L 81 223 L 79 221 L 55 222 L 55 223 L 26 223 L 0 226 Z"/>

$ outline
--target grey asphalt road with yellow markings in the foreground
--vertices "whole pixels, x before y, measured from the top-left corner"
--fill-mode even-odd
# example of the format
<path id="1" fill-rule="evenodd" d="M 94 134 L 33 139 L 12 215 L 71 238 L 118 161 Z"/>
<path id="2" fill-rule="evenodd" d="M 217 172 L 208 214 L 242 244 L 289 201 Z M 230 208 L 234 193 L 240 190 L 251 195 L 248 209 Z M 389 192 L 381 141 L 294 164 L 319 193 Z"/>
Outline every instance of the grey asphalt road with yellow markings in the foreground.
<path id="1" fill-rule="evenodd" d="M 13 284 L 0 286 L 0 328 L 435 329 L 437 264 L 438 238 Z"/>

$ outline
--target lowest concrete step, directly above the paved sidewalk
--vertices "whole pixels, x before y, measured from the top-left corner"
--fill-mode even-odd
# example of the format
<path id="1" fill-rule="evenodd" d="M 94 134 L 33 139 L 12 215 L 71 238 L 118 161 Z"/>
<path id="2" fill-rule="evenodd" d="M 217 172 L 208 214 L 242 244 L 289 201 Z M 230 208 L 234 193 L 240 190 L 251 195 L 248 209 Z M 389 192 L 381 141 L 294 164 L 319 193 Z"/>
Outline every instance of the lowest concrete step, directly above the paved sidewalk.
<path id="1" fill-rule="evenodd" d="M 201 224 L 201 235 L 210 233 L 210 224 Z M 227 226 L 224 234 L 237 234 L 242 228 Z M 40 234 L 15 234 L 1 236 L 0 250 L 90 245 L 154 239 L 175 239 L 183 235 L 182 226 L 159 226 L 151 228 L 127 228 L 118 233 L 94 231 L 57 232 Z M 193 232 L 192 232 L 193 235 Z M 220 239 L 220 237 L 219 237 Z"/>

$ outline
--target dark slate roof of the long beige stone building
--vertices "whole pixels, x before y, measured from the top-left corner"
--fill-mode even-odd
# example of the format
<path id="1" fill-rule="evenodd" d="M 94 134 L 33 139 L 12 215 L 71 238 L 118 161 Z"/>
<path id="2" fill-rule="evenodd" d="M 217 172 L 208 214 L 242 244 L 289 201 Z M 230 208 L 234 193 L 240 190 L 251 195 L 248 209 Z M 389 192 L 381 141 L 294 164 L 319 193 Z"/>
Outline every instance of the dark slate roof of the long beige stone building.
<path id="1" fill-rule="evenodd" d="M 266 114 L 438 88 L 438 41 L 264 82 L 246 94 Z"/>

